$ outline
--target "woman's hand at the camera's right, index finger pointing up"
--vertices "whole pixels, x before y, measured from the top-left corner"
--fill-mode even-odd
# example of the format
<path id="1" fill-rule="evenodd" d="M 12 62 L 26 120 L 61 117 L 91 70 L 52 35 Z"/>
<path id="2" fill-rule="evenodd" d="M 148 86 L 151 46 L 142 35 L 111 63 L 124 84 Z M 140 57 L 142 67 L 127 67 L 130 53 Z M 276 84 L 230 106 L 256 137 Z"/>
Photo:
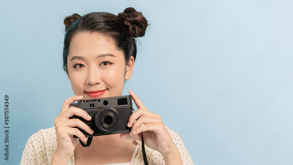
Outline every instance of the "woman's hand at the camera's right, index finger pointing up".
<path id="1" fill-rule="evenodd" d="M 127 126 L 132 127 L 131 132 L 120 134 L 120 138 L 141 142 L 141 132 L 143 132 L 144 144 L 151 149 L 159 151 L 162 156 L 178 153 L 178 149 L 168 130 L 164 126 L 161 117 L 158 114 L 148 111 L 136 94 L 131 90 L 129 91 L 129 94 L 138 110 L 132 113 L 128 120 Z"/>

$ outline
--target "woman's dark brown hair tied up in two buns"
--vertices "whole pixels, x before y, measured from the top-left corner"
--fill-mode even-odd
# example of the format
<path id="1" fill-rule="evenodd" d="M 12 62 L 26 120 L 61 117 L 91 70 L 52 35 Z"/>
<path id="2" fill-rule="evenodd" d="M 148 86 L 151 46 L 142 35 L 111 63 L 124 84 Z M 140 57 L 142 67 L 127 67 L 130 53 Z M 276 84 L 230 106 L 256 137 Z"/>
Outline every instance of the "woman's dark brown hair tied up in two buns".
<path id="1" fill-rule="evenodd" d="M 105 12 L 92 12 L 84 16 L 73 14 L 64 19 L 65 37 L 63 47 L 63 69 L 68 73 L 67 57 L 70 46 L 74 46 L 72 38 L 77 33 L 98 32 L 113 39 L 118 50 L 122 50 L 125 63 L 130 57 L 136 57 L 137 48 L 134 38 L 145 35 L 148 22 L 141 12 L 129 7 L 118 16 Z M 78 41 L 77 41 L 78 42 Z"/>

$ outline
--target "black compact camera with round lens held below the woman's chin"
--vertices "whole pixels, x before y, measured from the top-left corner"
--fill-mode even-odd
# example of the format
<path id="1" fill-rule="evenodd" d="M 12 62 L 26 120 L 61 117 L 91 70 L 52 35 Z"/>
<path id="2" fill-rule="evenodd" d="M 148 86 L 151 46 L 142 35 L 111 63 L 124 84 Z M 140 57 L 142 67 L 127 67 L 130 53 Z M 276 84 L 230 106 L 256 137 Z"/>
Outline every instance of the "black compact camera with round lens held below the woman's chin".
<path id="1" fill-rule="evenodd" d="M 85 137 L 111 135 L 131 131 L 131 127 L 127 127 L 128 119 L 134 112 L 131 95 L 79 100 L 78 103 L 72 103 L 71 106 L 81 108 L 91 116 L 90 121 L 76 115 L 71 117 L 86 123 L 86 125 L 94 131 L 91 135 L 81 128 L 75 127 L 78 128 Z M 76 136 L 74 137 L 77 138 Z"/>

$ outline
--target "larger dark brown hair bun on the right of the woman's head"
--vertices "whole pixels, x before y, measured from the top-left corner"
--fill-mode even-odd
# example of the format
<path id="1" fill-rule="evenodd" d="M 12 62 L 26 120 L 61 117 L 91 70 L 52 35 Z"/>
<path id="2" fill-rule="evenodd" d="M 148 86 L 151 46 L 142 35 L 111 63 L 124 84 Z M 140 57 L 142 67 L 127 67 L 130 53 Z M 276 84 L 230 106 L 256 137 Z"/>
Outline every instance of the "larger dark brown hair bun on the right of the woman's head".
<path id="1" fill-rule="evenodd" d="M 144 36 L 148 24 L 142 12 L 137 12 L 133 7 L 129 7 L 125 8 L 123 13 L 119 13 L 118 17 L 123 21 L 131 37 Z"/>

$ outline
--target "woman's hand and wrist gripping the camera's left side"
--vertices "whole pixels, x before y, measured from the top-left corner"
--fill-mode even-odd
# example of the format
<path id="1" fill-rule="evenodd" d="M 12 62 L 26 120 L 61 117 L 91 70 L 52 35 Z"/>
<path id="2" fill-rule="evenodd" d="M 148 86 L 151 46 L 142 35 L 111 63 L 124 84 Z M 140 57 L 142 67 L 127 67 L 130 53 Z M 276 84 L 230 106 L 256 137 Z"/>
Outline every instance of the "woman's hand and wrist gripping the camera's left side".
<path id="1" fill-rule="evenodd" d="M 79 142 L 79 138 L 84 142 L 87 141 L 84 134 L 79 129 L 73 127 L 79 127 L 89 134 L 93 134 L 93 130 L 81 120 L 69 119 L 71 116 L 76 115 L 85 120 L 91 120 L 91 116 L 89 116 L 86 111 L 77 107 L 70 107 L 70 104 L 74 103 L 74 101 L 81 100 L 82 98 L 83 96 L 72 96 L 66 99 L 59 116 L 54 119 L 57 149 L 52 157 L 51 164 L 67 164 Z M 76 135 L 79 138 L 74 138 L 73 135 Z"/>

